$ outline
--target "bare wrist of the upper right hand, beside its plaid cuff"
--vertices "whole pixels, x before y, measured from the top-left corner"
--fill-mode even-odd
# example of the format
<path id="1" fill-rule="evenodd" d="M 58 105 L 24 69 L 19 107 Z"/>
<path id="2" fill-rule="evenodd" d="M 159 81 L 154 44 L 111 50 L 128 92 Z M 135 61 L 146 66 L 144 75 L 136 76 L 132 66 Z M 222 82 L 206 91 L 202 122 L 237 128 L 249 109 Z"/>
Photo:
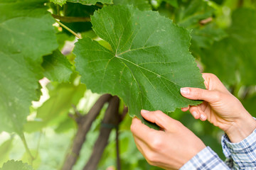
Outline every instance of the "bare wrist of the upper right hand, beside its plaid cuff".
<path id="1" fill-rule="evenodd" d="M 256 120 L 252 118 L 250 113 L 241 114 L 241 118 L 234 120 L 230 124 L 230 128 L 225 130 L 230 142 L 238 143 L 248 137 L 256 128 Z"/>

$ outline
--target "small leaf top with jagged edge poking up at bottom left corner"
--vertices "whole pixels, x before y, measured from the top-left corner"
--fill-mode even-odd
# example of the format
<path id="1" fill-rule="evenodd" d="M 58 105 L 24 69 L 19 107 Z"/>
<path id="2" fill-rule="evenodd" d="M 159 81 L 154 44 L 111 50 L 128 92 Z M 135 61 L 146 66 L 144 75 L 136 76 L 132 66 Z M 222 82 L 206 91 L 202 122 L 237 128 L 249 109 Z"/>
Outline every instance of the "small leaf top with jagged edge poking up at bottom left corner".
<path id="1" fill-rule="evenodd" d="M 0 170 L 33 170 L 32 166 L 21 161 L 10 160 L 0 168 Z"/>

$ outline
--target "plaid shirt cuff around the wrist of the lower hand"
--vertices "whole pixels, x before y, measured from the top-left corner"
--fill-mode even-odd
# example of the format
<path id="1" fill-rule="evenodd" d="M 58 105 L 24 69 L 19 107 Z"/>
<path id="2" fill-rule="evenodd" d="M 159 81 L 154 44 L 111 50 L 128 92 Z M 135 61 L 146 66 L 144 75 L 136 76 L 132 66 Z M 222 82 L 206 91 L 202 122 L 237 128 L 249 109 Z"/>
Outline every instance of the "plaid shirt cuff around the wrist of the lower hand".
<path id="1" fill-rule="evenodd" d="M 184 164 L 180 170 L 226 170 L 230 169 L 210 147 L 201 150 Z"/>

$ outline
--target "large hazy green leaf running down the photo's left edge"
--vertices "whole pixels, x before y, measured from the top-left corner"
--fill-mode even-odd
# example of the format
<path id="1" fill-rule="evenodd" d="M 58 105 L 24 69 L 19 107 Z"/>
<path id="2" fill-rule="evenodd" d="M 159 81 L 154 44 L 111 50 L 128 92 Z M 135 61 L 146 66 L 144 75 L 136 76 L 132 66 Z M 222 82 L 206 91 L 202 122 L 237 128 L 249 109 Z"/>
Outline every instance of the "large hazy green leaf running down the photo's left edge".
<path id="1" fill-rule="evenodd" d="M 42 57 L 58 47 L 44 3 L 0 0 L 0 131 L 21 132 L 38 98 Z"/>

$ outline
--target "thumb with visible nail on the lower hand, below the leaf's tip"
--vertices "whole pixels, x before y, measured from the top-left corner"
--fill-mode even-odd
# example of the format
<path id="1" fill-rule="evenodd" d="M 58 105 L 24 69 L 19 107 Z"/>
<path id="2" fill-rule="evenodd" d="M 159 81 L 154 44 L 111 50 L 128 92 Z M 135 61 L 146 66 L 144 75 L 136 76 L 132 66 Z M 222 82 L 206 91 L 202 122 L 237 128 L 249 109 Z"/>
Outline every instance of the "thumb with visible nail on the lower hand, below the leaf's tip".
<path id="1" fill-rule="evenodd" d="M 169 128 L 171 121 L 174 120 L 161 111 L 142 110 L 142 117 L 151 123 L 156 123 L 160 128 L 166 130 Z"/>

